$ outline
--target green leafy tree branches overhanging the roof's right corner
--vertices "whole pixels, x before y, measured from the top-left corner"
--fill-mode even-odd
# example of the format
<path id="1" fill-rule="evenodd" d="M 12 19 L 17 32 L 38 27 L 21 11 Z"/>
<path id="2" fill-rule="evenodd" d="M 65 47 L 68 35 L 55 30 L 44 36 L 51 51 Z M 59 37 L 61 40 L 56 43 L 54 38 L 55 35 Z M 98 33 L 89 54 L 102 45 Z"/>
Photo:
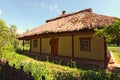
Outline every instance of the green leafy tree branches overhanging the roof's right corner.
<path id="1" fill-rule="evenodd" d="M 115 20 L 113 25 L 106 25 L 101 29 L 96 28 L 96 35 L 106 38 L 107 43 L 120 39 L 120 20 Z"/>

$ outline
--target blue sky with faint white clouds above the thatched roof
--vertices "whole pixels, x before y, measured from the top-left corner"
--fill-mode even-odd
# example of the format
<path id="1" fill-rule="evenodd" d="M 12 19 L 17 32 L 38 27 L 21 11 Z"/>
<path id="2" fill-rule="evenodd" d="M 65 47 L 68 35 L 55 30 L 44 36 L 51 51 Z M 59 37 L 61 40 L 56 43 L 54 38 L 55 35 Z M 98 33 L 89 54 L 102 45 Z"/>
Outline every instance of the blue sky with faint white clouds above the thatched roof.
<path id="1" fill-rule="evenodd" d="M 120 18 L 120 0 L 0 0 L 0 19 L 23 33 L 61 15 L 62 10 L 69 14 L 87 8 Z"/>

